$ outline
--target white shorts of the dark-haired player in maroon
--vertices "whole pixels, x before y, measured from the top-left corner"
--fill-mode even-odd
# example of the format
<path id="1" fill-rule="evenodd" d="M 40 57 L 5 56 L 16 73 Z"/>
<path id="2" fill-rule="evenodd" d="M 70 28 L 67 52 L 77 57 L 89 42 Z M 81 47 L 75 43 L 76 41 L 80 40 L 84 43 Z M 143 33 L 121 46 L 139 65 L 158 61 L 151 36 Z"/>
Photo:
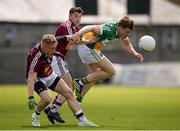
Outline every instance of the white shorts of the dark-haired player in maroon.
<path id="1" fill-rule="evenodd" d="M 60 56 L 53 56 L 51 66 L 54 73 L 58 76 L 62 76 L 66 73 L 69 73 L 66 63 Z"/>

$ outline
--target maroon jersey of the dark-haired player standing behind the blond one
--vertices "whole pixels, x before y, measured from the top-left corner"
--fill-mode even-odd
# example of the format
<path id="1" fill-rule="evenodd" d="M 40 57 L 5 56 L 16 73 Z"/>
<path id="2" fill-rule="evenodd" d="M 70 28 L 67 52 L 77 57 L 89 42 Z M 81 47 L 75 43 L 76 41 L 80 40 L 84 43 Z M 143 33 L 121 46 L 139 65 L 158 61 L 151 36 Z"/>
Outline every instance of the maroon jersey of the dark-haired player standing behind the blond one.
<path id="1" fill-rule="evenodd" d="M 70 20 L 67 20 L 66 22 L 61 23 L 56 32 L 55 36 L 62 36 L 62 35 L 72 35 L 75 32 L 77 32 L 79 29 L 73 25 L 73 23 Z M 59 42 L 56 47 L 55 55 L 61 56 L 62 59 L 64 59 L 64 56 L 66 55 L 67 51 L 69 50 L 71 46 L 71 43 L 69 42 Z"/>

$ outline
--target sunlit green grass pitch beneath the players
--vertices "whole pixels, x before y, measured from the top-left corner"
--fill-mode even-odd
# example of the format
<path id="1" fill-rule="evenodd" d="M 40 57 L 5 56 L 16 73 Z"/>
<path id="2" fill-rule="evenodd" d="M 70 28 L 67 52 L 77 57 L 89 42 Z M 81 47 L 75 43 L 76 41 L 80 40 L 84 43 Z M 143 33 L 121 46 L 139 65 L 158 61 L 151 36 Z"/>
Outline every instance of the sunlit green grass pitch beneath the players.
<path id="1" fill-rule="evenodd" d="M 27 87 L 1 85 L 0 130 L 180 130 L 180 88 L 117 87 L 94 86 L 83 100 L 84 113 L 100 128 L 78 127 L 67 104 L 60 109 L 65 124 L 51 125 L 42 113 L 41 127 L 35 128 Z"/>

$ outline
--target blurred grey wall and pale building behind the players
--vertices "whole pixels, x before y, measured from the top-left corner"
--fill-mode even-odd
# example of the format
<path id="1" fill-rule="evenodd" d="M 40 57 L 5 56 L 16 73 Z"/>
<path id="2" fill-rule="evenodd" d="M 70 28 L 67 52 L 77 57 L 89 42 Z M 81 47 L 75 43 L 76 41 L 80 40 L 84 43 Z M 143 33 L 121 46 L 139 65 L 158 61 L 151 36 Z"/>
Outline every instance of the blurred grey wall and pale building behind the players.
<path id="1" fill-rule="evenodd" d="M 135 21 L 130 35 L 134 48 L 143 35 L 156 40 L 156 49 L 143 53 L 144 64 L 125 52 L 117 40 L 103 53 L 117 70 L 103 83 L 180 87 L 179 0 L 0 0 L 0 83 L 24 84 L 29 49 L 43 34 L 54 33 L 68 19 L 73 6 L 84 10 L 82 25 L 118 21 L 128 15 Z M 86 75 L 76 46 L 66 56 L 73 78 Z"/>

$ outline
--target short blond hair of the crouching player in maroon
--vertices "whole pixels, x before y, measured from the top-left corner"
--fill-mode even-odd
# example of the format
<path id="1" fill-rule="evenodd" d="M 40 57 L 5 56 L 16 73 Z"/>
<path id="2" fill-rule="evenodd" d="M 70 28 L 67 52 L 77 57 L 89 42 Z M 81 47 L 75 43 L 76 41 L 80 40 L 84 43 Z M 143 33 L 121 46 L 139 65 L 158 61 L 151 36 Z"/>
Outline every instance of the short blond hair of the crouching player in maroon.
<path id="1" fill-rule="evenodd" d="M 53 34 L 45 34 L 43 35 L 41 41 L 46 45 L 52 45 L 57 42 L 56 37 Z"/>

